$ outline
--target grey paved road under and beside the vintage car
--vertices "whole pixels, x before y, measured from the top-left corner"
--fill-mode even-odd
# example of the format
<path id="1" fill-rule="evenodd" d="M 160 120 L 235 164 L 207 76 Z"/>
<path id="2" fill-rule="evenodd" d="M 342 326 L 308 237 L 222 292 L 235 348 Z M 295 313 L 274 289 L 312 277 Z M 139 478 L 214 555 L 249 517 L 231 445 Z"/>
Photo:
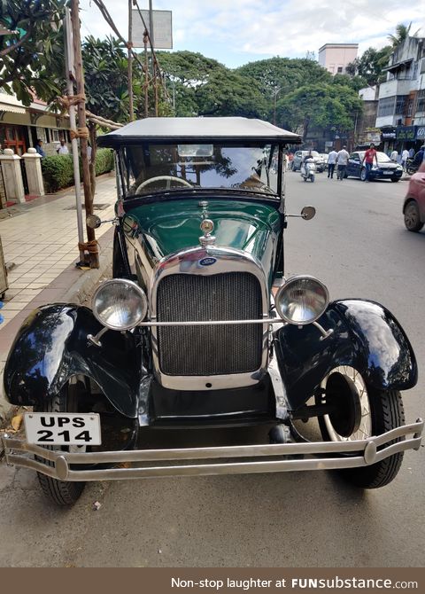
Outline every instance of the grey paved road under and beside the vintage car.
<path id="1" fill-rule="evenodd" d="M 287 273 L 310 273 L 331 298 L 382 301 L 425 366 L 425 232 L 400 213 L 406 182 L 288 179 Z M 405 397 L 424 415 L 425 380 Z M 52 510 L 35 478 L 0 466 L 0 566 L 421 567 L 424 454 L 408 452 L 398 478 L 353 490 L 331 473 L 205 477 L 90 485 L 72 510 Z M 11 483 L 13 481 L 13 488 Z M 99 511 L 92 504 L 99 501 Z"/>

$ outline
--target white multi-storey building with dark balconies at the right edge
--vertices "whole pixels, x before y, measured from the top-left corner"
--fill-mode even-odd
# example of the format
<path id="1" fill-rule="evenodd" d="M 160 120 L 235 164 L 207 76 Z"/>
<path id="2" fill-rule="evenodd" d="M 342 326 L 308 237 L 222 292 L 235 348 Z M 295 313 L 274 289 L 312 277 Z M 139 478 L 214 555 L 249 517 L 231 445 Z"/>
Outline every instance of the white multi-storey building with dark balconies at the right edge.
<path id="1" fill-rule="evenodd" d="M 384 150 L 415 151 L 425 139 L 425 39 L 407 37 L 390 55 L 380 85 L 376 127 Z"/>

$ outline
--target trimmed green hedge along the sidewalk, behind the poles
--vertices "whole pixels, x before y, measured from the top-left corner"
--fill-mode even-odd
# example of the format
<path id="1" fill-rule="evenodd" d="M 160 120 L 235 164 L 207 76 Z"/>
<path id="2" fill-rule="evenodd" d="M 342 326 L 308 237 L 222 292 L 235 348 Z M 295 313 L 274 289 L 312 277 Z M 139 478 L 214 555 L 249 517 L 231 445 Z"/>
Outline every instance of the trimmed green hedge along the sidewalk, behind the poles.
<path id="1" fill-rule="evenodd" d="M 113 154 L 110 149 L 97 149 L 95 168 L 97 176 L 112 171 Z M 42 177 L 48 192 L 55 192 L 73 185 L 73 156 L 58 154 L 44 157 L 42 159 Z"/>

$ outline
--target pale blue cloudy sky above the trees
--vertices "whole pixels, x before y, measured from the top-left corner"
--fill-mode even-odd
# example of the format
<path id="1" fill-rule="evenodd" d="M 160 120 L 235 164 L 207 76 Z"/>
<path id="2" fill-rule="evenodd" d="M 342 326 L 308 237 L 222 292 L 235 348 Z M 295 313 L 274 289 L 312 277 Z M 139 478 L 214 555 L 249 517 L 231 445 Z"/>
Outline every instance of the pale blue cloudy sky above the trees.
<path id="1" fill-rule="evenodd" d="M 120 34 L 128 38 L 128 0 L 104 0 Z M 149 0 L 138 0 L 141 9 Z M 325 43 L 388 44 L 398 23 L 425 36 L 423 0 L 152 0 L 173 13 L 173 50 L 198 51 L 230 68 L 274 56 L 305 58 Z M 80 0 L 81 36 L 112 31 L 92 0 Z"/>

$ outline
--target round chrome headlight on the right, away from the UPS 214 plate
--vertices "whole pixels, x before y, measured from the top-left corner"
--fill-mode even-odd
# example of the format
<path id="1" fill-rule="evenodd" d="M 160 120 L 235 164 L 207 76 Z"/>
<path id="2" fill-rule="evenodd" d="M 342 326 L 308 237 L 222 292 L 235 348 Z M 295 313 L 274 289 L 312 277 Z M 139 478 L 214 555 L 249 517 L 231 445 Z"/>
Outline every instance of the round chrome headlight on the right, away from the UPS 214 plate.
<path id="1" fill-rule="evenodd" d="M 314 277 L 292 277 L 275 297 L 278 314 L 290 324 L 312 324 L 328 307 L 329 293 Z"/>

